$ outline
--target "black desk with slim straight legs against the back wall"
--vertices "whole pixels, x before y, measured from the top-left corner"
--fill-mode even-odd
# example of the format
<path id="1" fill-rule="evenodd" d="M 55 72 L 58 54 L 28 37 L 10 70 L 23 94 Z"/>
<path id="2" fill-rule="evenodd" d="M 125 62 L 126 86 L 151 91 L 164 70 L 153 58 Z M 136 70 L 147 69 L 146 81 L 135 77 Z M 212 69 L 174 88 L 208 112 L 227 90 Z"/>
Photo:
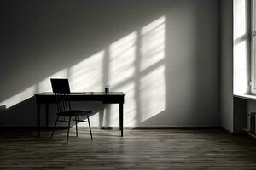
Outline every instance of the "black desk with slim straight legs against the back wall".
<path id="1" fill-rule="evenodd" d="M 40 136 L 40 110 L 41 104 L 45 105 L 45 121 L 46 127 L 48 127 L 48 117 L 49 117 L 49 104 L 55 103 L 55 94 L 53 93 L 41 93 L 35 94 L 37 102 L 38 111 L 38 136 Z M 72 93 L 69 95 L 71 101 L 102 101 L 103 104 L 119 104 L 119 130 L 121 131 L 121 136 L 123 136 L 124 127 L 124 103 L 125 94 L 122 92 L 110 92 L 106 95 L 103 92 L 91 93 Z"/>

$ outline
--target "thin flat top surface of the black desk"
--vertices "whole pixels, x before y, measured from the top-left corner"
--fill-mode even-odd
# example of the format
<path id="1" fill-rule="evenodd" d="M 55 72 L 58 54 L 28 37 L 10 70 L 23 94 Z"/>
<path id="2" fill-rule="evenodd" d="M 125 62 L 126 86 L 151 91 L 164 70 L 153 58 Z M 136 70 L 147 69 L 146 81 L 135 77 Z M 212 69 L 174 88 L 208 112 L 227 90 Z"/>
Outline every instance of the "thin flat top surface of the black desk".
<path id="1" fill-rule="evenodd" d="M 55 95 L 52 92 L 43 92 L 35 95 Z M 105 92 L 72 92 L 69 95 L 125 95 L 123 92 L 109 92 L 109 94 L 105 94 Z"/>

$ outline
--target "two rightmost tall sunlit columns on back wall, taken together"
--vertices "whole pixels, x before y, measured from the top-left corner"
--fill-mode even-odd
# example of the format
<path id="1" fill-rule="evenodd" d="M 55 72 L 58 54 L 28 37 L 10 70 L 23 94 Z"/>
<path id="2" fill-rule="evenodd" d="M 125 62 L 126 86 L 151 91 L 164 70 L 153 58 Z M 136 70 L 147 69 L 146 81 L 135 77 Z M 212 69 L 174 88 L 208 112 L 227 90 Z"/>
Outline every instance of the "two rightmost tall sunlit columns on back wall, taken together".
<path id="1" fill-rule="evenodd" d="M 166 109 L 165 17 L 138 32 L 110 46 L 110 89 L 125 92 L 125 126 L 136 126 Z M 110 112 L 118 113 L 118 107 L 111 105 Z M 110 123 L 118 126 L 119 115 L 111 115 Z"/>

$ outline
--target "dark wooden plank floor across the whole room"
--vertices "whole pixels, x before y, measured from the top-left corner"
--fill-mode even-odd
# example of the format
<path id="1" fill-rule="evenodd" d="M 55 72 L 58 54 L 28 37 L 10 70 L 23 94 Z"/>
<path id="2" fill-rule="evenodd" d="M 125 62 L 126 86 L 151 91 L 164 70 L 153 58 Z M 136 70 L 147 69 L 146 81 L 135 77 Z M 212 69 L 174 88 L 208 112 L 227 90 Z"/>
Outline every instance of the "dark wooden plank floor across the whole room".
<path id="1" fill-rule="evenodd" d="M 0 169 L 256 169 L 256 140 L 213 130 L 0 131 Z"/>

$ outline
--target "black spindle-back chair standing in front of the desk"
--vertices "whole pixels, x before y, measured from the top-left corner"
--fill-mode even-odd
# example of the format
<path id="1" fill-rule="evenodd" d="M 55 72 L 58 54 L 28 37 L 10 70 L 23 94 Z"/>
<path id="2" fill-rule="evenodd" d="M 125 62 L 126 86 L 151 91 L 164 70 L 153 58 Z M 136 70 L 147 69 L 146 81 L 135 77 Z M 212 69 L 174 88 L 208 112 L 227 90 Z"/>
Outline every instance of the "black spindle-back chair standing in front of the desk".
<path id="1" fill-rule="evenodd" d="M 68 143 L 68 135 L 69 135 L 69 128 L 70 128 L 70 122 L 71 118 L 74 117 L 74 121 L 76 124 L 76 136 L 78 137 L 78 122 L 88 122 L 89 128 L 90 128 L 90 119 L 89 116 L 92 114 L 92 111 L 83 111 L 83 110 L 73 110 L 71 107 L 69 94 L 70 94 L 70 88 L 68 79 L 50 79 L 52 90 L 55 93 L 55 102 L 57 106 L 57 119 L 55 121 L 55 127 L 57 125 L 57 122 L 67 122 L 68 128 L 67 128 L 67 143 Z M 59 117 L 64 117 L 64 120 L 59 120 Z M 87 121 L 80 120 L 80 116 L 86 116 Z M 66 121 L 65 117 L 68 117 L 68 121 Z M 51 133 L 50 138 L 52 139 L 53 134 L 55 133 L 55 127 L 53 128 L 53 131 Z M 90 128 L 90 138 L 92 138 L 91 128 Z"/>

